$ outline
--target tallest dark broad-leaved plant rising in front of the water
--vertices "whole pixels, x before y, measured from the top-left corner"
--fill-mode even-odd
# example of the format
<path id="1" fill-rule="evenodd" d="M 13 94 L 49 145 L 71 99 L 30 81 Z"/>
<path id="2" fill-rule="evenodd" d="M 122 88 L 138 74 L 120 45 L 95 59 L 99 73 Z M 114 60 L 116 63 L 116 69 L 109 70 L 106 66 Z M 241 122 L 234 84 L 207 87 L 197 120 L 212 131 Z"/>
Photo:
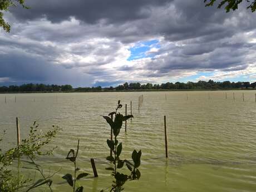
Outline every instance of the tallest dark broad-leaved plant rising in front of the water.
<path id="1" fill-rule="evenodd" d="M 120 130 L 122 128 L 122 122 L 134 117 L 132 115 L 123 116 L 120 112 L 117 112 L 121 109 L 122 105 L 120 104 L 120 100 L 117 103 L 116 110 L 111 112 L 109 116 L 115 115 L 114 121 L 109 116 L 103 116 L 107 123 L 110 125 L 111 129 L 113 130 L 114 140 L 107 140 L 107 145 L 113 151 L 114 156 L 110 155 L 107 156 L 107 160 L 114 164 L 114 168 L 106 168 L 107 170 L 112 170 L 112 175 L 114 176 L 115 180 L 113 181 L 114 184 L 111 186 L 111 191 L 119 192 L 124 190 L 123 185 L 128 180 L 138 180 L 140 179 L 140 157 L 141 157 L 141 150 L 137 152 L 134 150 L 132 152 L 132 161 L 129 160 L 122 160 L 120 159 L 120 155 L 122 152 L 122 142 L 119 143 L 117 137 L 120 134 Z M 124 164 L 126 165 L 127 169 L 129 169 L 130 174 L 126 175 L 119 172 L 119 169 L 123 168 Z M 104 191 L 104 190 L 101 190 Z"/>

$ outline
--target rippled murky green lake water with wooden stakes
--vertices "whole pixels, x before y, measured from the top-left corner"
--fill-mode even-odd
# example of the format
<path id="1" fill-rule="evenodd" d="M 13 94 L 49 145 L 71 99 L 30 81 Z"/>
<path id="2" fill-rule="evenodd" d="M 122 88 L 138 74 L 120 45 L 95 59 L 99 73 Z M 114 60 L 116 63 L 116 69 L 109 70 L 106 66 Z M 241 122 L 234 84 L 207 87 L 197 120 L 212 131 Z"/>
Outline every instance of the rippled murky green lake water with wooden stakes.
<path id="1" fill-rule="evenodd" d="M 227 92 L 227 99 L 225 98 Z M 235 92 L 235 100 L 233 99 Z M 209 95 L 210 93 L 210 99 Z M 121 130 L 122 157 L 130 159 L 142 150 L 141 179 L 125 185 L 125 191 L 256 191 L 255 91 L 35 93 L 0 95 L 0 131 L 7 130 L 2 148 L 16 144 L 16 116 L 24 138 L 38 120 L 42 130 L 59 125 L 63 131 L 51 146 L 54 156 L 37 161 L 53 177 L 55 191 L 71 191 L 61 176 L 72 170 L 65 157 L 80 139 L 78 166 L 92 174 L 95 158 L 99 178 L 80 182 L 84 191 L 100 191 L 111 185 L 106 139 L 110 129 L 100 115 L 114 110 L 117 100 L 127 104 L 135 118 Z M 140 111 L 139 96 L 144 95 Z M 166 94 L 166 100 L 165 100 Z M 187 99 L 188 94 L 188 99 Z M 7 97 L 7 103 L 4 97 Z M 16 96 L 16 103 L 14 97 Z M 125 109 L 121 109 L 122 112 Z M 169 158 L 165 158 L 164 115 L 167 119 Z M 33 174 L 33 173 L 32 173 Z"/>

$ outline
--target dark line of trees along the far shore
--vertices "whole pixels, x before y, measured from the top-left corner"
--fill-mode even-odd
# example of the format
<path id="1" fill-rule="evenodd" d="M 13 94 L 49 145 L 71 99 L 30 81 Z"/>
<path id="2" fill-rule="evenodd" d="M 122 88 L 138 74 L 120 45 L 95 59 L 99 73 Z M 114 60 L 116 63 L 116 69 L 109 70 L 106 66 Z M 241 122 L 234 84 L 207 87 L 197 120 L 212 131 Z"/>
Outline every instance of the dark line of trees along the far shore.
<path id="1" fill-rule="evenodd" d="M 256 90 L 256 82 L 166 82 L 161 84 L 124 83 L 116 87 L 77 87 L 71 85 L 23 84 L 21 86 L 0 86 L 0 93 L 65 93 L 65 92 L 133 92 L 133 91 L 219 91 L 219 90 Z"/>

